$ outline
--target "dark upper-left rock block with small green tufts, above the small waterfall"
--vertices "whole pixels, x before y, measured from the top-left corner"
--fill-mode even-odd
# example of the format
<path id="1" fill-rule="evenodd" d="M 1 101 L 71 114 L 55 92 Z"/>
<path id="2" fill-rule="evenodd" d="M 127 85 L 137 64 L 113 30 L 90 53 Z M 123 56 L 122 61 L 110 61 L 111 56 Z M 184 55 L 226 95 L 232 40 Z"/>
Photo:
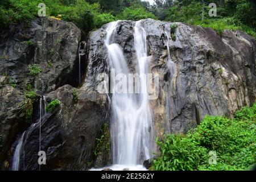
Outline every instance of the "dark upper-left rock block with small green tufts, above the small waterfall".
<path id="1" fill-rule="evenodd" d="M 77 86 L 77 49 L 81 31 L 73 23 L 49 18 L 36 19 L 30 27 L 10 27 L 1 32 L 0 73 L 10 84 L 49 93 L 65 84 Z M 30 75 L 28 65 L 42 72 Z M 77 74 L 77 75 L 76 75 Z"/>

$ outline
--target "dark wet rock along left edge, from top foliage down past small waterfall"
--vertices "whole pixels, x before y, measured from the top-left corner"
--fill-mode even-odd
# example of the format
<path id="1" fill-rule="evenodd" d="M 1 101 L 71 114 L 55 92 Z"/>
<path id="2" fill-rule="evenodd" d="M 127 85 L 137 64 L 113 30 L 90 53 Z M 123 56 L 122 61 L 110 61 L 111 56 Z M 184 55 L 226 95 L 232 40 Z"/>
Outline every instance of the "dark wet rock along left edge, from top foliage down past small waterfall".
<path id="1" fill-rule="evenodd" d="M 31 123 L 24 119 L 24 92 L 46 94 L 65 84 L 78 85 L 77 49 L 81 31 L 73 23 L 51 18 L 19 24 L 0 32 L 0 166 L 9 168 L 15 140 Z M 29 65 L 42 69 L 30 75 Z M 11 86 L 10 86 L 11 85 Z M 38 107 L 38 106 L 35 106 Z M 34 120 L 38 109 L 34 108 Z"/>

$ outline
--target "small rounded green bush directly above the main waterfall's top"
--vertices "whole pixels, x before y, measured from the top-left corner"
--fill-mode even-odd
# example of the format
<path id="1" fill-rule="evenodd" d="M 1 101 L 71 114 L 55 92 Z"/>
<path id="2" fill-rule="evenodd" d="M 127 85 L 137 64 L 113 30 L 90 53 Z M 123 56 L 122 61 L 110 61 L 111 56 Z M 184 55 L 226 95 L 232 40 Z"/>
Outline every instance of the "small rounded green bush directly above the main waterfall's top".
<path id="1" fill-rule="evenodd" d="M 139 8 L 128 8 L 126 7 L 125 10 L 122 11 L 121 14 L 117 15 L 118 19 L 123 19 L 123 20 L 140 20 L 140 19 L 146 19 L 146 18 L 152 18 L 152 19 L 157 19 L 156 16 L 142 7 Z"/>

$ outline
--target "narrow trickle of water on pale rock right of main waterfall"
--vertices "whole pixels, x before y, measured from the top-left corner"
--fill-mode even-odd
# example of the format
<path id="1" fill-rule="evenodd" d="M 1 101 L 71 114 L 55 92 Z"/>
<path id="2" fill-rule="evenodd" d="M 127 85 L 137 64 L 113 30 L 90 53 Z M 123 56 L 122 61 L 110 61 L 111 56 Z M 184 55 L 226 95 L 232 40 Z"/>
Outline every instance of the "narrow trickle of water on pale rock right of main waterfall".
<path id="1" fill-rule="evenodd" d="M 166 25 L 166 28 L 167 28 L 167 25 Z M 168 78 L 168 82 L 167 82 L 167 94 L 166 94 L 166 129 L 165 129 L 165 133 L 166 134 L 170 134 L 171 133 L 171 126 L 170 126 L 170 115 L 169 115 L 169 112 L 170 112 L 170 106 L 169 106 L 169 91 L 170 91 L 170 82 L 172 81 L 172 78 L 174 76 L 174 73 L 175 73 L 175 64 L 174 62 L 172 61 L 171 59 L 171 52 L 170 52 L 170 36 L 169 34 L 171 32 L 171 30 L 166 30 L 164 33 L 166 34 L 166 47 L 167 47 L 167 68 L 168 68 L 168 72 L 170 74 L 169 75 L 169 78 Z M 171 79 L 170 79 L 171 78 Z"/>

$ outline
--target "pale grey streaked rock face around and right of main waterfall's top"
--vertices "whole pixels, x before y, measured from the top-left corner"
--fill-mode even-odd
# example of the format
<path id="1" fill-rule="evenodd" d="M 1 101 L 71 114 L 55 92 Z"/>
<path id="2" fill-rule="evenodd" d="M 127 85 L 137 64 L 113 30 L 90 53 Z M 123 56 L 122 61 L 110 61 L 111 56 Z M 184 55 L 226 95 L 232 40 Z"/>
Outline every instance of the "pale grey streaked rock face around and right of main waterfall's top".
<path id="1" fill-rule="evenodd" d="M 159 74 L 159 97 L 151 101 L 158 137 L 168 132 L 185 133 L 207 114 L 233 117 L 237 109 L 255 102 L 256 42 L 253 37 L 228 30 L 219 36 L 210 28 L 183 23 L 176 23 L 177 28 L 170 30 L 171 24 L 142 20 L 151 56 L 149 72 Z M 123 48 L 130 72 L 138 73 L 134 25 L 132 21 L 118 22 L 112 40 Z M 89 68 L 89 72 L 108 71 L 105 28 L 90 34 L 92 69 Z M 167 64 L 167 42 L 171 61 L 175 63 L 173 73 Z"/>

